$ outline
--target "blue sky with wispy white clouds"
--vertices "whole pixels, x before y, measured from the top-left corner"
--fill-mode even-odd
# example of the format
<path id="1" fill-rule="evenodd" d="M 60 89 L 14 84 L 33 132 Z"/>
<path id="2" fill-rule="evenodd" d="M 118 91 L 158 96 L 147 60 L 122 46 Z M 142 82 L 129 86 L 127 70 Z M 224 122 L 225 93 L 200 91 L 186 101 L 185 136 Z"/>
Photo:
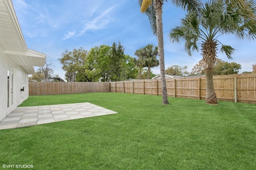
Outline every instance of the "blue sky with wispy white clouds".
<path id="1" fill-rule="evenodd" d="M 28 48 L 45 53 L 54 64 L 54 74 L 64 78 L 65 72 L 58 58 L 68 49 L 83 47 L 90 50 L 99 45 L 121 42 L 126 55 L 134 56 L 136 49 L 153 44 L 148 17 L 140 12 L 138 0 L 12 0 L 23 36 Z M 165 67 L 188 66 L 190 72 L 202 59 L 194 51 L 189 57 L 184 43 L 172 43 L 168 34 L 171 28 L 180 24 L 185 12 L 165 2 L 163 9 Z M 242 65 L 243 71 L 252 71 L 256 63 L 256 41 L 238 40 L 234 36 L 219 39 L 223 44 L 236 49 L 233 59 L 218 51 L 218 58 Z M 38 69 L 35 67 L 35 69 Z M 159 67 L 152 68 L 159 74 Z"/>

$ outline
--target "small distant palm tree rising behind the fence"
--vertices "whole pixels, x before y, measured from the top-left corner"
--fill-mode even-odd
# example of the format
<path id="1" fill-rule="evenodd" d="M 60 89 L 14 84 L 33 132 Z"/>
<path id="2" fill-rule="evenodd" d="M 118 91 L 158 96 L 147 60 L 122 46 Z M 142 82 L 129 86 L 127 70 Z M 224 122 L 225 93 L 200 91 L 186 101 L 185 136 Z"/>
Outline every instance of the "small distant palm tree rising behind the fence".
<path id="1" fill-rule="evenodd" d="M 136 50 L 135 55 L 140 56 L 140 61 L 144 67 L 148 67 L 148 79 L 150 79 L 150 68 L 157 67 L 159 65 L 158 59 L 158 47 L 153 49 L 154 45 L 148 44 L 143 48 Z"/>

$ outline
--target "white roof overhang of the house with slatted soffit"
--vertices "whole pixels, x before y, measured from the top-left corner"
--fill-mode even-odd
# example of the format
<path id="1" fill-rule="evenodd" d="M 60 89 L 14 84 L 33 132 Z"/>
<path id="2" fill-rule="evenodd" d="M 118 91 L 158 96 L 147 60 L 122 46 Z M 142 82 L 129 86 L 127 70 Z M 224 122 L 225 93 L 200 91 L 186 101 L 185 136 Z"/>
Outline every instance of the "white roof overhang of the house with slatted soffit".
<path id="1" fill-rule="evenodd" d="M 4 53 L 28 74 L 34 74 L 33 66 L 44 66 L 46 54 L 28 49 L 11 0 L 0 0 L 0 45 Z"/>

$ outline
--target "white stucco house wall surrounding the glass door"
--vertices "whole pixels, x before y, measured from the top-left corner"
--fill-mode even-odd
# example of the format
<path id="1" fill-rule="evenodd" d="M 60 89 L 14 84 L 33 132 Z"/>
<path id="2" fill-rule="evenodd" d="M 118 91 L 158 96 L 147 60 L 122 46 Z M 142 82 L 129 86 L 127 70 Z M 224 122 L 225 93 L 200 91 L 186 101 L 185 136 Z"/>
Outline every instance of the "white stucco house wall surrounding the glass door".
<path id="1" fill-rule="evenodd" d="M 10 57 L 4 53 L 4 48 L 0 45 L 0 121 L 6 117 L 8 112 L 7 108 L 7 70 L 8 68 L 14 71 L 13 80 L 13 100 L 14 108 L 20 105 L 28 98 L 28 73 L 20 66 L 17 65 Z M 24 91 L 20 91 L 24 87 Z"/>

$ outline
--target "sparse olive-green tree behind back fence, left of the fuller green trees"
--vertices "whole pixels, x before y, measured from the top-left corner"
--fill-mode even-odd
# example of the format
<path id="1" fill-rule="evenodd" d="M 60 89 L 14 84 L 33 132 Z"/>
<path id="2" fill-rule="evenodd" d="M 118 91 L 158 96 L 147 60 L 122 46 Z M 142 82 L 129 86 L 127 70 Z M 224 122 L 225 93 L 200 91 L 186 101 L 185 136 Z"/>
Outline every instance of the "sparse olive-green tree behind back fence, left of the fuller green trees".
<path id="1" fill-rule="evenodd" d="M 66 74 L 76 76 L 76 81 L 92 81 L 88 78 L 84 68 L 87 55 L 88 51 L 82 47 L 73 49 L 73 51 L 66 49 L 58 60 L 62 64 L 62 69 L 66 71 Z"/>

